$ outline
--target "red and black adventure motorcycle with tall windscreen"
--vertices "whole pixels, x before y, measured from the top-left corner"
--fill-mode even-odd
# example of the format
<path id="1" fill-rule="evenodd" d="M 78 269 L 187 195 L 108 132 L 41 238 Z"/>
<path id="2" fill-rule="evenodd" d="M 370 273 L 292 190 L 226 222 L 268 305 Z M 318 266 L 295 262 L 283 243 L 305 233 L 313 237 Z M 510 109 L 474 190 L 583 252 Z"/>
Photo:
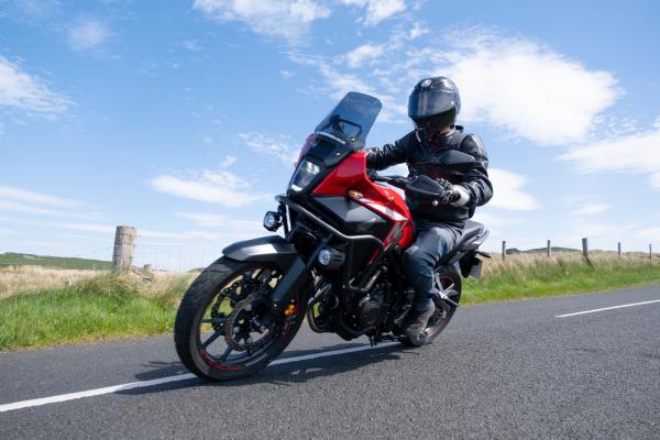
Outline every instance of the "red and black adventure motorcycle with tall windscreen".
<path id="1" fill-rule="evenodd" d="M 400 176 L 367 175 L 365 139 L 382 103 L 349 92 L 305 142 L 286 195 L 266 212 L 267 235 L 234 243 L 186 292 L 175 321 L 184 365 L 211 381 L 263 370 L 304 320 L 315 332 L 372 344 L 414 341 L 399 331 L 414 290 L 402 257 L 415 238 L 404 197 L 438 197 Z M 463 161 L 463 162 L 461 162 Z M 452 169 L 472 156 L 450 152 Z M 457 165 L 459 165 L 457 167 Z M 488 231 L 468 220 L 454 249 L 435 268 L 436 312 L 415 343 L 431 343 L 461 298 L 461 275 L 479 277 Z"/>

